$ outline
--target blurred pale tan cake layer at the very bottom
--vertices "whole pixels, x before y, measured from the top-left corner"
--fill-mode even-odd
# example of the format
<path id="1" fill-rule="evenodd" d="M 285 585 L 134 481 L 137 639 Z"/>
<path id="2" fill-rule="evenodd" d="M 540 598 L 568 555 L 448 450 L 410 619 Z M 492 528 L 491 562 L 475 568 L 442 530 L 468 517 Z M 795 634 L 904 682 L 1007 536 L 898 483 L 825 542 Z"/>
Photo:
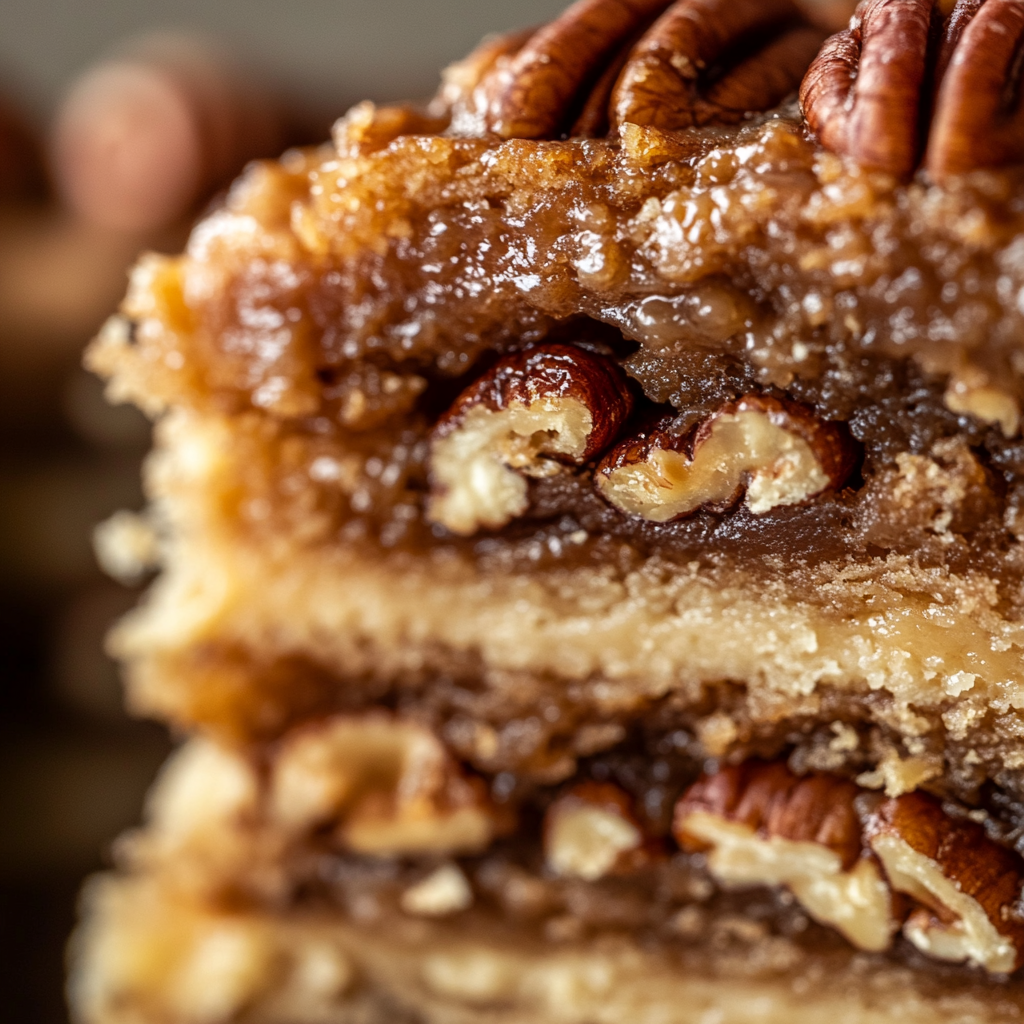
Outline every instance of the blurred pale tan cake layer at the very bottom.
<path id="1" fill-rule="evenodd" d="M 764 941 L 649 953 L 529 942 L 501 925 L 354 924 L 216 909 L 159 879 L 97 880 L 71 994 L 83 1024 L 1009 1024 L 1020 984 L 929 987 L 845 953 Z"/>

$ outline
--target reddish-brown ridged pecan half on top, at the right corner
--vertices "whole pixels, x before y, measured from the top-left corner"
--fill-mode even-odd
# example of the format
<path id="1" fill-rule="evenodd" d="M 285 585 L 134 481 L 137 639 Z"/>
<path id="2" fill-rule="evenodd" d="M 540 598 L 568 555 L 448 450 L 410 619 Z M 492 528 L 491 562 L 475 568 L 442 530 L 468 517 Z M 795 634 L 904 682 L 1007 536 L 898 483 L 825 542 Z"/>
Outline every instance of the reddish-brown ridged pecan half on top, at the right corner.
<path id="1" fill-rule="evenodd" d="M 1024 5 L 863 0 L 800 90 L 828 150 L 871 170 L 931 178 L 1024 163 Z"/>

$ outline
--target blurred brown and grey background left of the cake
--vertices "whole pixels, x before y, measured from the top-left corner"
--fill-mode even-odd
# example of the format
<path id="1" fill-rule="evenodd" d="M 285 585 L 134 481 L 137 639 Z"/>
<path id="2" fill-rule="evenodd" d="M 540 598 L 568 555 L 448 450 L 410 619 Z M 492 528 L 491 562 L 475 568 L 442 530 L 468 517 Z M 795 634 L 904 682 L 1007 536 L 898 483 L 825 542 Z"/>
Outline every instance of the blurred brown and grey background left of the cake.
<path id="1" fill-rule="evenodd" d="M 487 31 L 562 0 L 0 3 L 0 1019 L 67 1020 L 85 876 L 170 746 L 102 653 L 137 598 L 96 523 L 139 508 L 148 427 L 84 345 L 143 249 L 175 251 L 250 158 L 327 137 L 353 101 L 427 96 Z"/>

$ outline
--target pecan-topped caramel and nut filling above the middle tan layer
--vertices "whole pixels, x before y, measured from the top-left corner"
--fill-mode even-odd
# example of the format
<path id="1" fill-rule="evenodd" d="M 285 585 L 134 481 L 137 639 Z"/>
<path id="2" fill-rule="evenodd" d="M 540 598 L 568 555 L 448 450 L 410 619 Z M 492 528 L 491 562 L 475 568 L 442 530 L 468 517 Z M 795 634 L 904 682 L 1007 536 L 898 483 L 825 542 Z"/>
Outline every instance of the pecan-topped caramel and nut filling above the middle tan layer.
<path id="1" fill-rule="evenodd" d="M 428 111 L 360 105 L 333 151 L 255 168 L 139 267 L 94 362 L 156 412 L 237 416 L 238 520 L 303 543 L 760 565 L 784 537 L 980 568 L 1014 605 L 1019 171 L 958 176 L 1024 162 L 1022 24 L 865 0 L 801 123 L 791 0 L 583 0 Z M 922 161 L 941 187 L 861 169 Z"/>

